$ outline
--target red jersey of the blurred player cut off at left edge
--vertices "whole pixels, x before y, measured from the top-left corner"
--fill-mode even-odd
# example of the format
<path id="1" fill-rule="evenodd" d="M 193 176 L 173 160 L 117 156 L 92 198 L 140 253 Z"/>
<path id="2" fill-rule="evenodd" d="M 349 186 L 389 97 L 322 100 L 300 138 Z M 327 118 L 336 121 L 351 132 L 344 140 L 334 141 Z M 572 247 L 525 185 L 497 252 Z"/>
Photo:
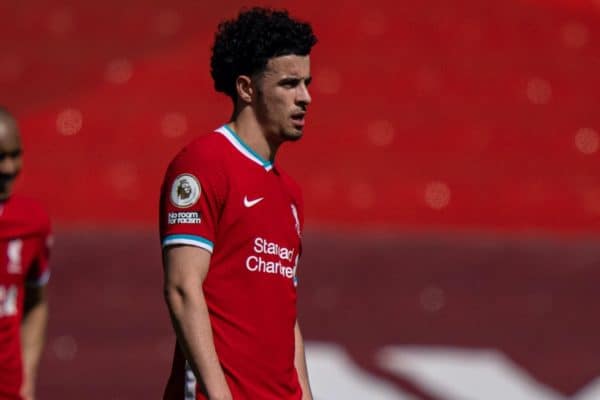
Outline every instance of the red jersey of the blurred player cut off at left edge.
<path id="1" fill-rule="evenodd" d="M 20 399 L 23 381 L 20 326 L 26 285 L 50 276 L 50 220 L 35 201 L 0 202 L 0 398 Z"/>

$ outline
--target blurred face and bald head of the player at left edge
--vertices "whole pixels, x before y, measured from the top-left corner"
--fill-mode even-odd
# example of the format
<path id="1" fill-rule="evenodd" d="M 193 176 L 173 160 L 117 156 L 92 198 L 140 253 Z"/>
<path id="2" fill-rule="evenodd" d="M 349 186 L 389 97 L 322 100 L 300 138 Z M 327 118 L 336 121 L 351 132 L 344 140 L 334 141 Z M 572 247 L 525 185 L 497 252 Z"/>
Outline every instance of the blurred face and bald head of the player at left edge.
<path id="1" fill-rule="evenodd" d="M 0 200 L 6 200 L 22 166 L 21 138 L 12 118 L 0 116 Z"/>

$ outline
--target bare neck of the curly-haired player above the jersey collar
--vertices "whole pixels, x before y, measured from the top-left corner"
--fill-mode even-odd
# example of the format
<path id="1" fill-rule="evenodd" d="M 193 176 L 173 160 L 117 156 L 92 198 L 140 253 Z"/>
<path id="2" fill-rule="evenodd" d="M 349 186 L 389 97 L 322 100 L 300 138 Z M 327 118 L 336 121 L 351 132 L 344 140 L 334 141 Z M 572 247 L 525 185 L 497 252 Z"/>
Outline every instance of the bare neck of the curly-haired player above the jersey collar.
<path id="1" fill-rule="evenodd" d="M 265 160 L 274 162 L 281 143 L 274 143 L 269 140 L 268 132 L 258 122 L 251 107 L 243 107 L 240 111 L 234 112 L 229 125 L 244 143 L 258 155 Z"/>

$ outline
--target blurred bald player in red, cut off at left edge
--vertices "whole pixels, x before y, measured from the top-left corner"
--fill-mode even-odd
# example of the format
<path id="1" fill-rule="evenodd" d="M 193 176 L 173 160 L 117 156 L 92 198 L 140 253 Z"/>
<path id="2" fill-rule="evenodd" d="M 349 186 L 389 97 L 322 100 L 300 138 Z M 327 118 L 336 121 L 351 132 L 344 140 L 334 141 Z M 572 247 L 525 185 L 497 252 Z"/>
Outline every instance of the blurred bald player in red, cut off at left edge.
<path id="1" fill-rule="evenodd" d="M 22 154 L 17 122 L 0 107 L 0 399 L 31 400 L 48 319 L 50 221 L 12 193 Z"/>

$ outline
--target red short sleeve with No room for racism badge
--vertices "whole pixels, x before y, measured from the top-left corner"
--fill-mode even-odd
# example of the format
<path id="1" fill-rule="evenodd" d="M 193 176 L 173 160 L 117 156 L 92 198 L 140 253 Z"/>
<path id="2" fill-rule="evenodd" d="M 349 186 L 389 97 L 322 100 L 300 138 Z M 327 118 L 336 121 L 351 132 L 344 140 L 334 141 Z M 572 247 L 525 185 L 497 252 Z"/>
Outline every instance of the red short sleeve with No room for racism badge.
<path id="1" fill-rule="evenodd" d="M 219 163 L 184 149 L 167 168 L 160 196 L 160 237 L 163 248 L 196 246 L 213 252 L 223 204 Z"/>

